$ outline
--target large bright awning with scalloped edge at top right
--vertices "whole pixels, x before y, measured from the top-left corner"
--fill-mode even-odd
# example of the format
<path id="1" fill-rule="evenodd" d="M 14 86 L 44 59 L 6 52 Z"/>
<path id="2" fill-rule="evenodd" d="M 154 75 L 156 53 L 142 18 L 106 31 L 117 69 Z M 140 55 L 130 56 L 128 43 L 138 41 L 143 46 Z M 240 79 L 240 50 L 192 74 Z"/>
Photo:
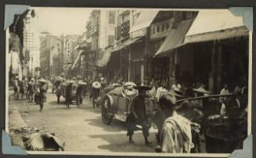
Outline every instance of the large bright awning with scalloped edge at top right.
<path id="1" fill-rule="evenodd" d="M 186 43 L 222 40 L 248 35 L 243 17 L 234 16 L 228 9 L 200 10 L 188 33 Z"/>

